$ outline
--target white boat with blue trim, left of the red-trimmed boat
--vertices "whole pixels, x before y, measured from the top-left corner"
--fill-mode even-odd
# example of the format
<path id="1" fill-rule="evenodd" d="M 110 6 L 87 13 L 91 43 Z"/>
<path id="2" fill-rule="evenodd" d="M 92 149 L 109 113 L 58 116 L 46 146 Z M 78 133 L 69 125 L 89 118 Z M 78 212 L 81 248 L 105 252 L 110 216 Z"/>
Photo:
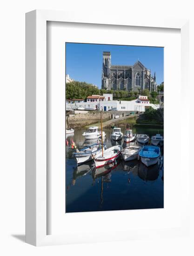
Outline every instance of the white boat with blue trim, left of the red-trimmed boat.
<path id="1" fill-rule="evenodd" d="M 106 145 L 103 145 L 103 148 L 106 148 Z M 76 149 L 74 152 L 74 157 L 76 159 L 77 164 L 81 164 L 83 162 L 88 162 L 94 159 L 94 156 L 97 156 L 102 152 L 102 145 L 95 143 L 91 146 L 87 146 L 82 149 Z"/>

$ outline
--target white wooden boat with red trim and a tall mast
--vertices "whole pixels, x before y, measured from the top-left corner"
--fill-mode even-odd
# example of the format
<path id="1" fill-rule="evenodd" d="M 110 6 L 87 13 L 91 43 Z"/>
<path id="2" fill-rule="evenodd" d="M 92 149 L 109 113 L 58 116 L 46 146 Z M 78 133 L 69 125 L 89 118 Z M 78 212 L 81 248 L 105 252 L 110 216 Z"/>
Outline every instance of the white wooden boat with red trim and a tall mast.
<path id="1" fill-rule="evenodd" d="M 98 156 L 94 157 L 96 168 L 100 168 L 115 162 L 115 160 L 120 156 L 121 150 L 122 147 L 120 145 L 103 150 L 103 152 L 101 152 Z"/>

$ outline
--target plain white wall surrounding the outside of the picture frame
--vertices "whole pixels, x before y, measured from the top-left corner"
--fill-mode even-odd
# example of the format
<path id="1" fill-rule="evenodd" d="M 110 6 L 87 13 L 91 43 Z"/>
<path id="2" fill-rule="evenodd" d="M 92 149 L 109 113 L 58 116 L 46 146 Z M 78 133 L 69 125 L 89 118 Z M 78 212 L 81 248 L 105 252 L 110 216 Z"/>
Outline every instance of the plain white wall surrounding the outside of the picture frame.
<path id="1" fill-rule="evenodd" d="M 118 7 L 120 13 L 118 13 Z M 83 15 L 89 15 L 94 11 L 108 10 L 113 15 L 135 16 L 138 9 L 138 15 L 142 17 L 145 13 L 153 20 L 157 20 L 157 15 L 161 18 L 190 18 L 190 70 L 194 70 L 194 18 L 193 1 L 171 0 L 154 1 L 122 0 L 116 4 L 112 0 L 93 1 L 64 1 L 64 0 L 6 0 L 1 1 L 1 40 L 0 40 L 0 170 L 1 170 L 1 218 L 0 218 L 0 255 L 20 255 L 20 256 L 62 256 L 64 254 L 74 256 L 89 256 L 91 252 L 94 256 L 104 255 L 126 255 L 126 252 L 133 253 L 134 256 L 149 255 L 164 256 L 173 252 L 176 256 L 194 255 L 193 237 L 180 237 L 166 240 L 145 240 L 118 243 L 98 243 L 98 244 L 80 244 L 68 246 L 52 246 L 35 248 L 30 246 L 24 240 L 25 234 L 25 13 L 33 9 L 51 9 L 60 11 L 79 11 Z M 131 10 L 131 11 L 130 11 Z M 173 10 L 173 12 L 172 12 Z M 154 16 L 154 13 L 156 16 Z M 146 17 L 145 17 L 146 19 Z M 129 39 L 130 40 L 130 39 Z M 103 42 L 102 42 L 103 43 Z M 101 74 L 100 74 L 101 75 Z M 157 75 L 157 74 L 156 74 Z M 190 72 L 190 76 L 193 75 Z M 191 78 L 191 77 L 190 77 Z M 192 81 L 190 79 L 190 81 Z M 188 101 L 194 94 L 194 87 L 190 83 Z M 185 112 L 187 115 L 187 111 Z M 193 129 L 193 117 L 188 117 Z M 191 182 L 194 180 L 194 172 L 190 173 Z M 190 184 L 192 193 L 194 187 Z M 181 186 L 181 184 L 180 184 Z M 191 200 L 194 194 L 191 194 Z M 193 212 L 193 204 L 191 204 Z M 100 213 L 99 213 L 100 214 Z M 126 220 L 129 221 L 129 220 Z M 160 220 L 159 220 L 160 221 Z M 182 220 L 184 221 L 184 219 Z M 102 220 L 102 225 L 103 225 Z M 114 225 L 114 223 L 113 223 Z M 74 223 L 72 223 L 74 228 Z M 191 222 L 191 235 L 193 236 L 194 222 Z"/>

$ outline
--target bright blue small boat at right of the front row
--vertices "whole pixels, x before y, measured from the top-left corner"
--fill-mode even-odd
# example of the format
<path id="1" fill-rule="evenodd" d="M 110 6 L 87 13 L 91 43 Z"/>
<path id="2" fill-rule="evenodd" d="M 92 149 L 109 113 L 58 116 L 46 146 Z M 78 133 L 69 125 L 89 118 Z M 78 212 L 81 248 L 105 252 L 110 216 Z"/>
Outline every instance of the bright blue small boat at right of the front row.
<path id="1" fill-rule="evenodd" d="M 158 160 L 161 155 L 161 149 L 155 146 L 144 146 L 141 148 L 139 156 L 141 162 L 147 167 L 158 163 Z"/>

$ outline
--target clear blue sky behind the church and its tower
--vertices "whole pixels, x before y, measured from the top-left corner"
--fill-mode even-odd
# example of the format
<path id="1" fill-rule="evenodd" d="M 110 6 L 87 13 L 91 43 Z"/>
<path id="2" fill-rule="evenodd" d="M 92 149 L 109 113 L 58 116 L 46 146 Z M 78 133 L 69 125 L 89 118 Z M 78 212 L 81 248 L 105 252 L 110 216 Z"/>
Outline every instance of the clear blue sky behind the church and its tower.
<path id="1" fill-rule="evenodd" d="M 157 84 L 164 81 L 163 47 L 66 43 L 66 74 L 101 88 L 103 52 L 111 52 L 112 65 L 134 65 L 139 59 L 153 76 L 156 72 Z"/>

